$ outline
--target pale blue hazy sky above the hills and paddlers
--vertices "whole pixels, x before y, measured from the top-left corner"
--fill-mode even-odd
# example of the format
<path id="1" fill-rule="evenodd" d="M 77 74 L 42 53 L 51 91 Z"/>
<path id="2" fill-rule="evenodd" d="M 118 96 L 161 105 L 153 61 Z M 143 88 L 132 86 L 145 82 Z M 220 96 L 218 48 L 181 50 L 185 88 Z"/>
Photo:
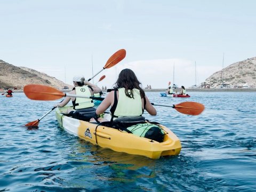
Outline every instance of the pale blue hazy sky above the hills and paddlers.
<path id="1" fill-rule="evenodd" d="M 256 57 L 255 7 L 254 0 L 0 0 L 0 59 L 72 84 L 125 49 L 94 83 L 106 75 L 98 85 L 110 88 L 130 68 L 143 87 L 173 80 L 189 87 L 221 70 L 223 53 L 224 67 Z"/>

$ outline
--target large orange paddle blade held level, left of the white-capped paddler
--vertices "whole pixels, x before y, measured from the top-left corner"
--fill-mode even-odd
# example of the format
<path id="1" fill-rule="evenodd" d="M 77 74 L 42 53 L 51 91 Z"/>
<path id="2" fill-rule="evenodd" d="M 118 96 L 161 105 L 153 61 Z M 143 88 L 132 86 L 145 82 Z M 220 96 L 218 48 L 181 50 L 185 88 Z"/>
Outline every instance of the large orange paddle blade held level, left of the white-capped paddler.
<path id="1" fill-rule="evenodd" d="M 23 89 L 29 99 L 51 101 L 65 97 L 65 93 L 46 85 L 25 85 Z"/>

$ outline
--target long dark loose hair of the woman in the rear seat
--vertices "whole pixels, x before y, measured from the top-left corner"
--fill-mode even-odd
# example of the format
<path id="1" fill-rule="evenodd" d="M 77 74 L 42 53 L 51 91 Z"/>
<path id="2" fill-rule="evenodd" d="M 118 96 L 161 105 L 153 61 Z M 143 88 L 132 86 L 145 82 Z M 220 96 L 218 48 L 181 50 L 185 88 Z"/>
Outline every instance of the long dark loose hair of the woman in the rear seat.
<path id="1" fill-rule="evenodd" d="M 131 69 L 123 69 L 118 76 L 118 79 L 116 81 L 116 87 L 118 88 L 125 88 L 125 95 L 129 98 L 133 97 L 133 90 L 132 89 L 138 89 L 140 90 L 140 97 L 145 97 L 145 92 L 140 87 L 140 82 L 138 81 L 136 75 Z M 128 90 L 131 90 L 129 93 Z"/>

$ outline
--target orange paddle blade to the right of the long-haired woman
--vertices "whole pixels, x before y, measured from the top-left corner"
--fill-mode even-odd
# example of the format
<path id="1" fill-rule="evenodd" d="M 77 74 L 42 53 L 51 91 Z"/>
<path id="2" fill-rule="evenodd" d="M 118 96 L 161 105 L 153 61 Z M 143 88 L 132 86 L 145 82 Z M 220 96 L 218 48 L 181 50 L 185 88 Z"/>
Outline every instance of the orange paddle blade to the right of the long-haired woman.
<path id="1" fill-rule="evenodd" d="M 182 114 L 187 115 L 199 115 L 204 110 L 204 105 L 198 102 L 182 102 L 178 105 L 173 105 L 173 108 L 179 111 Z"/>

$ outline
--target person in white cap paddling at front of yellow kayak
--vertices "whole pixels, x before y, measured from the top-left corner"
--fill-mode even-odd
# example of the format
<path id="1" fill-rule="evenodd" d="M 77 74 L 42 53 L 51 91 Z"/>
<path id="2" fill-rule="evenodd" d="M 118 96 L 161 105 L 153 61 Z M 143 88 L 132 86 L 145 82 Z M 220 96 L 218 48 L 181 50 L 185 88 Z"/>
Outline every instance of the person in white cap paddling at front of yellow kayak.
<path id="1" fill-rule="evenodd" d="M 89 81 L 85 80 L 84 76 L 78 75 L 73 77 L 74 88 L 69 94 L 77 94 L 81 96 L 85 96 L 88 98 L 74 98 L 74 97 L 66 97 L 60 103 L 57 103 L 54 107 L 64 107 L 71 100 L 73 104 L 73 109 L 68 111 L 68 113 L 74 113 L 77 109 L 85 109 L 94 107 L 94 103 L 90 97 L 94 93 L 100 93 L 101 89 L 97 85 L 93 85 Z"/>

